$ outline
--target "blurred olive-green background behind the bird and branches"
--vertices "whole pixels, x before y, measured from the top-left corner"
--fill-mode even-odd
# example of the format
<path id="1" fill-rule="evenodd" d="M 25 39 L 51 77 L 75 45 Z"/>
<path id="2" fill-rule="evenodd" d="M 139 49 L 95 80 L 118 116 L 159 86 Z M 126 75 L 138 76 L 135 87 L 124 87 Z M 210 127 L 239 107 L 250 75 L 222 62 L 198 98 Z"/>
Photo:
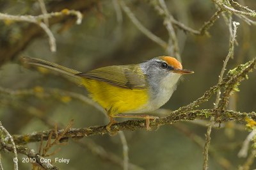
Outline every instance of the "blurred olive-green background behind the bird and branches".
<path id="1" fill-rule="evenodd" d="M 238 2 L 252 10 L 256 7 L 256 1 Z M 36 88 L 38 90 L 39 88 L 39 91 L 58 88 L 87 95 L 84 88 L 76 86 L 56 73 L 44 73 L 33 68 L 25 68 L 20 63 L 20 56 L 41 58 L 86 72 L 100 66 L 141 63 L 156 56 L 166 55 L 165 50 L 143 35 L 124 12 L 121 15 L 122 20 L 117 20 L 115 1 L 69 1 L 68 3 L 67 1 L 45 1 L 48 12 L 63 8 L 71 10 L 76 3 L 92 3 L 87 8 L 83 8 L 82 24 L 76 25 L 74 17 L 67 17 L 51 26 L 51 31 L 56 38 L 56 52 L 50 51 L 48 38 L 42 32 L 40 33 L 42 36 L 31 38 L 28 45 L 12 58 L 1 60 L 1 87 L 12 90 Z M 145 27 L 163 40 L 168 40 L 163 18 L 157 15 L 147 1 L 133 0 L 125 3 Z M 200 29 L 202 24 L 216 12 L 211 1 L 170 0 L 166 3 L 175 19 L 195 29 Z M 79 10 L 79 8 L 75 9 Z M 0 12 L 12 15 L 41 13 L 38 1 L 0 1 Z M 256 54 L 255 26 L 248 26 L 236 16 L 233 20 L 240 23 L 236 38 L 238 45 L 235 47 L 234 59 L 230 59 L 227 70 L 246 63 L 255 58 Z M 15 48 L 12 45 L 24 40 L 24 37 L 29 34 L 30 30 L 24 31 L 24 27 L 29 27 L 29 24 L 7 23 L 0 20 L 0 58 L 6 57 L 4 48 L 10 47 L 8 52 L 12 52 L 12 47 Z M 170 110 L 193 102 L 218 82 L 218 75 L 223 60 L 228 54 L 229 45 L 228 26 L 223 17 L 220 17 L 209 29 L 211 36 L 195 36 L 184 33 L 180 29 L 176 31 L 182 65 L 195 73 L 184 77 L 171 100 L 162 107 Z M 241 83 L 240 91 L 232 97 L 230 109 L 241 112 L 256 111 L 255 80 L 256 73 L 253 72 L 249 74 L 248 80 Z M 33 115 L 35 112 L 40 112 L 41 116 L 49 118 L 52 123 L 58 123 L 60 128 L 67 125 L 71 119 L 74 119 L 73 128 L 108 123 L 102 112 L 74 98 L 63 100 L 58 96 L 43 98 L 4 93 L 0 93 L 0 98 L 1 122 L 11 134 L 25 134 L 52 128 L 38 116 Z M 215 97 L 212 97 L 200 108 L 212 108 L 214 101 Z M 237 169 L 246 160 L 246 158 L 238 158 L 237 153 L 248 131 L 245 126 L 239 126 L 237 123 L 226 125 L 224 128 L 214 128 L 212 131 L 209 169 Z M 124 132 L 129 146 L 129 162 L 143 169 L 202 169 L 203 149 L 192 138 L 196 135 L 204 139 L 206 129 L 207 127 L 195 123 L 180 122 L 150 132 L 145 130 Z M 114 153 L 122 160 L 122 143 L 118 135 L 84 137 L 79 139 L 79 143 L 83 144 L 70 139 L 66 146 L 57 146 L 56 148 L 61 147 L 61 151 L 50 158 L 70 158 L 70 162 L 54 165 L 61 169 L 122 169 L 121 166 L 106 158 L 99 157 L 97 153 L 92 152 L 92 146 L 88 146 L 88 143 L 95 143 L 97 147 L 104 148 L 108 153 Z M 38 151 L 39 143 L 28 144 L 28 147 Z M 26 156 L 19 155 L 19 160 L 23 157 Z M 2 153 L 1 160 L 6 169 L 12 168 L 12 154 Z M 20 169 L 31 168 L 31 164 L 28 163 L 20 162 L 19 166 Z M 256 164 L 253 164 L 252 169 L 254 168 Z"/>

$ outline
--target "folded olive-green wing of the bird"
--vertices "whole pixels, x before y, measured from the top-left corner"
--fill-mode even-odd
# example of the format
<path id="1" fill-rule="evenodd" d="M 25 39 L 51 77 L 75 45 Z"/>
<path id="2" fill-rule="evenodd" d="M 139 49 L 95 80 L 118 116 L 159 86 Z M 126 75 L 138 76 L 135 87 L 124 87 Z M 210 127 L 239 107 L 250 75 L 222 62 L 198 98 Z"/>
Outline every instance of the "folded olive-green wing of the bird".
<path id="1" fill-rule="evenodd" d="M 108 82 L 114 86 L 127 89 L 141 89 L 146 86 L 143 72 L 133 65 L 106 66 L 86 73 L 77 73 L 76 75 L 86 79 Z"/>

